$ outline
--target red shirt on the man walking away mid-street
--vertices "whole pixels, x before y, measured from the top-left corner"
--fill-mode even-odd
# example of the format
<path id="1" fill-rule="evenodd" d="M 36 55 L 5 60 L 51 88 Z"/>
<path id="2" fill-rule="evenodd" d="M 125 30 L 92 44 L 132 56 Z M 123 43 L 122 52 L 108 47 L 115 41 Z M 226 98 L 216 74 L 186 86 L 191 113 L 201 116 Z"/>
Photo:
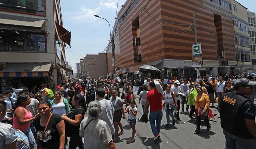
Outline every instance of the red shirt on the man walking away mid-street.
<path id="1" fill-rule="evenodd" d="M 149 102 L 150 112 L 162 110 L 162 93 L 159 93 L 157 89 L 148 91 L 146 100 Z"/>

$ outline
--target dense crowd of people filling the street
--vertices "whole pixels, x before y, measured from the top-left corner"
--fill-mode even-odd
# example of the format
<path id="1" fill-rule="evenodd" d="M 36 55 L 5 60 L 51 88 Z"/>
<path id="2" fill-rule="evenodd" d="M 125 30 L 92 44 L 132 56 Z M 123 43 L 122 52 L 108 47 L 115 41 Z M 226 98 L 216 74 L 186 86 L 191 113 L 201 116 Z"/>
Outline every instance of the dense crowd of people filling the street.
<path id="1" fill-rule="evenodd" d="M 139 104 L 149 117 L 153 140 L 160 139 L 164 112 L 166 128 L 170 127 L 170 117 L 172 125 L 184 123 L 180 114 L 195 117 L 194 134 L 198 134 L 201 119 L 206 122 L 206 130 L 211 130 L 209 119 L 216 116 L 211 108 L 216 108 L 226 137 L 225 149 L 254 149 L 256 82 L 253 78 L 218 75 L 198 76 L 192 81 L 183 77 L 173 80 L 146 77 L 143 91 L 138 95 Z M 125 113 L 132 128 L 127 141 L 133 142 L 138 135 L 138 95 L 133 93 L 131 85 L 138 83 L 124 78 L 74 80 L 59 84 L 53 97 L 49 96 L 46 84 L 41 89 L 34 86 L 31 92 L 28 88 L 20 88 L 18 93 L 8 88 L 0 94 L 0 149 L 66 149 L 66 145 L 69 149 L 116 149 L 114 142 L 125 133 L 121 122 L 127 116 Z M 215 103 L 218 104 L 214 107 Z"/>

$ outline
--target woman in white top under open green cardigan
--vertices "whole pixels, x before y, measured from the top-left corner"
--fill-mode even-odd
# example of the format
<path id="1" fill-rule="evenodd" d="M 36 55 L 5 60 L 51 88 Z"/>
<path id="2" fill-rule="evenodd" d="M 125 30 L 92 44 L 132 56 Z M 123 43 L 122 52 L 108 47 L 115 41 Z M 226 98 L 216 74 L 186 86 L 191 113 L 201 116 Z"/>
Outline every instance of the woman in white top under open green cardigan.
<path id="1" fill-rule="evenodd" d="M 62 116 L 70 111 L 68 100 L 62 97 L 62 93 L 58 90 L 54 92 L 54 99 L 51 101 L 52 113 Z"/>

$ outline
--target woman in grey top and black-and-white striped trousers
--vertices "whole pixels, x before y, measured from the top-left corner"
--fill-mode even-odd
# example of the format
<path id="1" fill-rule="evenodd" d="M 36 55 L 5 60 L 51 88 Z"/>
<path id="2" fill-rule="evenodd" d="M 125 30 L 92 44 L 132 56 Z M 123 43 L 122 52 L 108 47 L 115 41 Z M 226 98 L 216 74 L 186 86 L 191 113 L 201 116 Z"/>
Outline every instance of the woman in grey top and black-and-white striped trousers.
<path id="1" fill-rule="evenodd" d="M 125 119 L 124 115 L 124 106 L 123 106 L 123 101 L 121 98 L 117 96 L 116 90 L 112 90 L 111 92 L 112 97 L 110 97 L 110 101 L 112 102 L 112 105 L 114 106 L 115 112 L 114 112 L 114 127 L 115 127 L 115 140 L 119 135 L 124 134 L 124 129 L 123 125 L 121 122 L 121 119 Z M 118 126 L 120 127 L 121 131 L 118 133 Z"/>

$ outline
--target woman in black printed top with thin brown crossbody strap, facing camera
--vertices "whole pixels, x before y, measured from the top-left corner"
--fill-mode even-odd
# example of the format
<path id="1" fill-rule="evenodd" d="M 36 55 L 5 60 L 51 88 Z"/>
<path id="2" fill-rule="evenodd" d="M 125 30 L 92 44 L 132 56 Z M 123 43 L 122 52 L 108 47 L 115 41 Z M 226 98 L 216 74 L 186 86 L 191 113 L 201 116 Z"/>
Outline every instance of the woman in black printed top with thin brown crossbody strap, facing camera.
<path id="1" fill-rule="evenodd" d="M 38 137 L 38 148 L 64 149 L 64 120 L 62 120 L 60 115 L 52 114 L 51 108 L 50 102 L 39 102 L 38 104 L 38 112 L 40 116 L 34 120 L 34 127 Z M 47 125 L 48 121 L 49 123 Z"/>

